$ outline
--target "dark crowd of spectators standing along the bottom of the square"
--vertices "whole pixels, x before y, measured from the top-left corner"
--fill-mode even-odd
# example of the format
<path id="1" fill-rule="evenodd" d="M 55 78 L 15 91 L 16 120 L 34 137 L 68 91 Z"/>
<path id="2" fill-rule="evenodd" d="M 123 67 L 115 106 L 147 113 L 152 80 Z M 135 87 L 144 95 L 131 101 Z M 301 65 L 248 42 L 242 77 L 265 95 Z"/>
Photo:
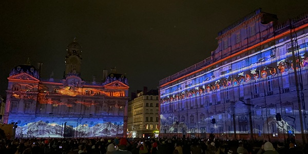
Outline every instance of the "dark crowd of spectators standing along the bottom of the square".
<path id="1" fill-rule="evenodd" d="M 0 140 L 4 154 L 286 154 L 308 153 L 294 142 L 181 138 Z"/>

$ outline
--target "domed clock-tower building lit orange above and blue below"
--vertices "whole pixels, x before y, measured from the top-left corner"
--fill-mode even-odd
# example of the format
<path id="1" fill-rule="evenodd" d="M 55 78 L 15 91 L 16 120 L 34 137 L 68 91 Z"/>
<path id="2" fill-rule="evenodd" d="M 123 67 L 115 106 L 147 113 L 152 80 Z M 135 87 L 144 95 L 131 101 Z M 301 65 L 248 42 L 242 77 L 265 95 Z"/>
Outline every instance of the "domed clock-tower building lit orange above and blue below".
<path id="1" fill-rule="evenodd" d="M 127 78 L 111 69 L 103 82 L 82 80 L 81 49 L 75 40 L 68 45 L 63 79 L 40 78 L 29 61 L 12 69 L 4 123 L 17 123 L 16 137 L 126 136 Z"/>

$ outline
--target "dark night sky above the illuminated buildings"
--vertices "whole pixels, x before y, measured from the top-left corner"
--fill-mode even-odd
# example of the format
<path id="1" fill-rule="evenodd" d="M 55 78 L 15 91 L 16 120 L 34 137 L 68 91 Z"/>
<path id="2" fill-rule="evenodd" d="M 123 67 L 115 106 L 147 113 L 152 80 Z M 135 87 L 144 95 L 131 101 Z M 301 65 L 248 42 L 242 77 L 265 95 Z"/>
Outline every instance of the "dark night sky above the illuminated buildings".
<path id="1" fill-rule="evenodd" d="M 42 78 L 62 78 L 66 47 L 83 46 L 82 78 L 102 79 L 104 68 L 127 73 L 130 91 L 194 65 L 217 48 L 217 33 L 257 8 L 279 21 L 308 11 L 308 1 L 2 1 L 0 94 L 10 70 L 43 63 Z"/>

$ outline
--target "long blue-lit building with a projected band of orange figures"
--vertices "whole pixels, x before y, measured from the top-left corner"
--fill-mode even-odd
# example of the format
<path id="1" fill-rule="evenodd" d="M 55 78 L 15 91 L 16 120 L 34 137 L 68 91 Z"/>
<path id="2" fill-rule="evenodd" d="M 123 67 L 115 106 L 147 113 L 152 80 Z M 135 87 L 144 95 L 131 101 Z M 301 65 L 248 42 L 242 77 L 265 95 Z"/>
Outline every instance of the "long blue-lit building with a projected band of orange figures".
<path id="1" fill-rule="evenodd" d="M 160 135 L 302 139 L 307 22 L 258 9 L 219 32 L 210 57 L 160 81 Z"/>

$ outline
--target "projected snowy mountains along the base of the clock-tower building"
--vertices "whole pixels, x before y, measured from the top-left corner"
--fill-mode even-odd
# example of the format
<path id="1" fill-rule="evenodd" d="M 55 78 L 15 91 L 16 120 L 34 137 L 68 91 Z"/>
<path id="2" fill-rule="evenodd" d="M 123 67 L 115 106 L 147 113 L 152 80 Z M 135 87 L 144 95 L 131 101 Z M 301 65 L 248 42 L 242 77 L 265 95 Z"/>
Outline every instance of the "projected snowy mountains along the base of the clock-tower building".
<path id="1" fill-rule="evenodd" d="M 118 125 L 117 125 L 118 124 Z M 64 125 L 62 123 L 45 123 L 37 121 L 16 128 L 17 138 L 63 138 Z M 88 124 L 72 127 L 66 125 L 65 137 L 74 138 L 104 138 L 123 137 L 123 122 L 98 123 L 89 127 Z"/>

